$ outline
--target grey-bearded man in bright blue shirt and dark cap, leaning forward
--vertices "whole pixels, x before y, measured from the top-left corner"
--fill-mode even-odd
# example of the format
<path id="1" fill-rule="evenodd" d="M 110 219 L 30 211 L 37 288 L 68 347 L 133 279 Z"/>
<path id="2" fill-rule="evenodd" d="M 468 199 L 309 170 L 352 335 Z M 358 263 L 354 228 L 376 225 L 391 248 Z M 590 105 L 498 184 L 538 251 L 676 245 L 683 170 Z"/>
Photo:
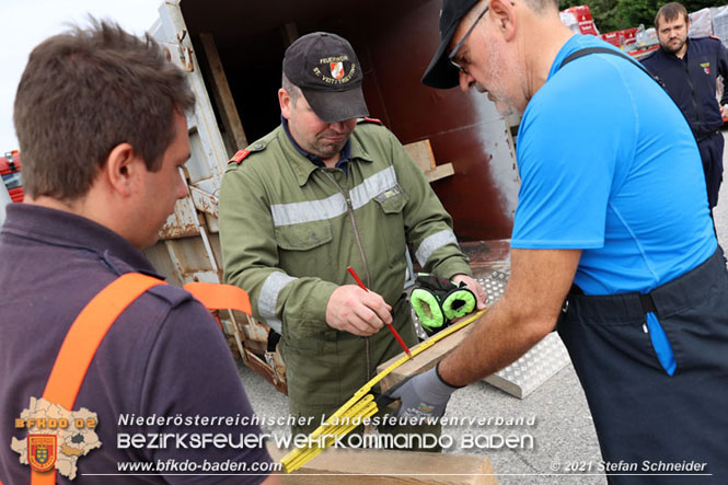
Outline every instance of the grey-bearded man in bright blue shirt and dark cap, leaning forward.
<path id="1" fill-rule="evenodd" d="M 400 413 L 441 414 L 458 386 L 557 326 L 605 461 L 640 473 L 694 461 L 725 482 L 728 274 L 682 114 L 634 61 L 573 35 L 555 0 L 444 0 L 440 33 L 423 81 L 523 114 L 522 183 L 504 297 L 436 369 L 390 392 Z"/>

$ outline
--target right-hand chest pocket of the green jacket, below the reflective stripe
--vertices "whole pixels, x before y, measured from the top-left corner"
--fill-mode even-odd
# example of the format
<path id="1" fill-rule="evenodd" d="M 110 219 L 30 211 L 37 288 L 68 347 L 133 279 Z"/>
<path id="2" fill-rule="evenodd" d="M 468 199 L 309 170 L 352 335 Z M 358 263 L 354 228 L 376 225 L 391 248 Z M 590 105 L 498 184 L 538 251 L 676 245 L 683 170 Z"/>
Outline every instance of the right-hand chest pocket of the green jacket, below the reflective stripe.
<path id="1" fill-rule="evenodd" d="M 404 228 L 404 207 L 409 197 L 398 185 L 382 192 L 374 197 L 378 207 L 378 229 L 384 242 L 386 258 L 390 266 L 404 265 L 407 240 Z"/>

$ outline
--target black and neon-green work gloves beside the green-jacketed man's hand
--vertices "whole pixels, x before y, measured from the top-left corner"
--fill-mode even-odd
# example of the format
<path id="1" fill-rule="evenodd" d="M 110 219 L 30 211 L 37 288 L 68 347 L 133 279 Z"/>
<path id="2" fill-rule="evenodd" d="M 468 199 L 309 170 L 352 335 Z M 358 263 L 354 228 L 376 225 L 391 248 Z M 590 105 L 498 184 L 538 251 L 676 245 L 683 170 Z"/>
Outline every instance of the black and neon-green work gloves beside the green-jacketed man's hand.
<path id="1" fill-rule="evenodd" d="M 464 281 L 458 286 L 447 278 L 420 273 L 415 279 L 409 304 L 425 332 L 434 335 L 454 319 L 475 310 L 477 299 Z"/>

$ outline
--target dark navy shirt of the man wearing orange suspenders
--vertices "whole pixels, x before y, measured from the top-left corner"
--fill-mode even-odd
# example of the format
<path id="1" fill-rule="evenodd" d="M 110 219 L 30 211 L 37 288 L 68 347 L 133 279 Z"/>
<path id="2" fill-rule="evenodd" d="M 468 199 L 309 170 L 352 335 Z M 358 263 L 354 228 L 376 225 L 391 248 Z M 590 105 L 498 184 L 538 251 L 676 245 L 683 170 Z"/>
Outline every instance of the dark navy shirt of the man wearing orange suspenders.
<path id="1" fill-rule="evenodd" d="M 147 258 L 115 232 L 58 210 L 25 204 L 7 207 L 0 242 L 0 482 L 30 483 L 11 437 L 25 438 L 15 418 L 31 397 L 43 395 L 71 323 L 119 275 L 154 276 Z M 88 474 L 119 473 L 123 462 L 167 460 L 200 463 L 266 462 L 265 449 L 117 448 L 119 434 L 212 432 L 259 435 L 257 426 L 123 426 L 122 415 L 141 417 L 252 416 L 238 369 L 210 313 L 185 290 L 150 289 L 117 319 L 91 362 L 74 408 L 96 413 L 102 444 L 79 457 L 69 482 L 100 483 Z M 42 432 L 42 430 L 33 431 Z M 198 472 L 199 473 L 199 472 Z M 265 476 L 124 476 L 124 483 L 259 483 Z"/>

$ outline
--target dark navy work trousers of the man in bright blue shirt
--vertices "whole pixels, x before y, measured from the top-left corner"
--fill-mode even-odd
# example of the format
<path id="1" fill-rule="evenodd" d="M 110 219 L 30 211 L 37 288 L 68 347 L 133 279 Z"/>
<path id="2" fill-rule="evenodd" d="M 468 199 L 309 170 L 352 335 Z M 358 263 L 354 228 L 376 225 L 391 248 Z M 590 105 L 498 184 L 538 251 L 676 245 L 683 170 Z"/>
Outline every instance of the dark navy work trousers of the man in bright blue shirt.
<path id="1" fill-rule="evenodd" d="M 674 351 L 672 377 L 645 332 L 638 293 L 588 297 L 573 291 L 558 322 L 602 458 L 624 462 L 608 474 L 609 483 L 728 484 L 728 273 L 723 251 L 718 247 L 702 265 L 650 295 Z M 713 476 L 627 475 L 669 473 L 660 462 L 683 467 L 694 462 L 690 466 Z M 634 469 L 625 470 L 629 466 Z"/>

